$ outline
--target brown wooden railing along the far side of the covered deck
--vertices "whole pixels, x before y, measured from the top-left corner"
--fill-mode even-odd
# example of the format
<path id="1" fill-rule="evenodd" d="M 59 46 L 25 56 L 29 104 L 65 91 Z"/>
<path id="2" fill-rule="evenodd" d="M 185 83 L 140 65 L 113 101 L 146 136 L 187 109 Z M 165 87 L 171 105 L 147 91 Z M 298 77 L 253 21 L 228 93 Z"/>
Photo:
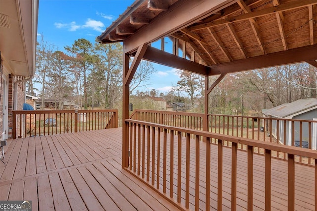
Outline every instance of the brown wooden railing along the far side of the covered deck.
<path id="1" fill-rule="evenodd" d="M 317 121 L 314 120 L 208 114 L 206 115 L 207 126 L 204 129 L 203 118 L 204 114 L 198 113 L 141 109 L 135 110 L 131 115 L 131 119 L 140 121 L 210 131 L 281 145 L 317 149 Z M 215 142 L 216 140 L 211 139 L 211 143 L 214 144 Z M 225 141 L 224 146 L 228 146 L 228 142 Z M 238 148 L 247 150 L 247 147 L 244 145 L 239 145 Z M 264 154 L 263 150 L 261 151 L 259 148 L 256 148 L 256 150 L 257 153 Z M 287 155 L 277 152 L 273 156 L 286 159 Z M 313 161 L 310 158 L 296 156 L 295 159 L 296 162 L 313 165 Z"/>

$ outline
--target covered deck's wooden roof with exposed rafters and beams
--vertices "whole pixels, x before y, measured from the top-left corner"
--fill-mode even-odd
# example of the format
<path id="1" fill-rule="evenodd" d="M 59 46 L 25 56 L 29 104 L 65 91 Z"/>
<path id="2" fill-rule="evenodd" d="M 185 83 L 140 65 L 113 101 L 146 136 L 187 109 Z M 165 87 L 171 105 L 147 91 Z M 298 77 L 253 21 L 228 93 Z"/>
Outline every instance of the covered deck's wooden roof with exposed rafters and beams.
<path id="1" fill-rule="evenodd" d="M 142 59 L 205 76 L 305 61 L 317 67 L 316 11 L 317 0 L 136 0 L 98 40 L 123 42 L 134 56 L 171 38 L 174 55 L 162 44 Z"/>

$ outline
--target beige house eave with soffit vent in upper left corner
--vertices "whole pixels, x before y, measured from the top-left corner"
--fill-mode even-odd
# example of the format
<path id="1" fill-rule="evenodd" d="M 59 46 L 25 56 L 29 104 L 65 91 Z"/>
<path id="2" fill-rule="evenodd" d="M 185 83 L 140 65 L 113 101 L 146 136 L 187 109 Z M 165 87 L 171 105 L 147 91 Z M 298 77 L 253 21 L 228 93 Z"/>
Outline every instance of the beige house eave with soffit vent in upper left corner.
<path id="1" fill-rule="evenodd" d="M 0 52 L 14 75 L 35 72 L 38 0 L 0 0 Z"/>

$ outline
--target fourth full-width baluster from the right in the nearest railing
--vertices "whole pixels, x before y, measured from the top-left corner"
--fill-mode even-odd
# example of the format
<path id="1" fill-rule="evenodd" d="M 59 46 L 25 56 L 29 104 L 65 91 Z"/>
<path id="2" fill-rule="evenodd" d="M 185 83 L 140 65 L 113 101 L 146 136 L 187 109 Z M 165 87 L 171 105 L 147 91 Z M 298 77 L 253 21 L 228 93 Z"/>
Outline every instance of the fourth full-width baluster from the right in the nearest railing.
<path id="1" fill-rule="evenodd" d="M 237 143 L 232 142 L 231 154 L 231 210 L 237 210 Z"/>

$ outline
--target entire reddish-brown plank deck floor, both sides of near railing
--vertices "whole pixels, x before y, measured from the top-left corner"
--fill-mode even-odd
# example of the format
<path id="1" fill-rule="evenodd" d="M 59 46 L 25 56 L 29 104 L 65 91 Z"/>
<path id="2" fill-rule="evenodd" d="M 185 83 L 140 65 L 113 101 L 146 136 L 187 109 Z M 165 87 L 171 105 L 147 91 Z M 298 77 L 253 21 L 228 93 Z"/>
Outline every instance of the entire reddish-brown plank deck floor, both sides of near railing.
<path id="1" fill-rule="evenodd" d="M 121 142 L 122 128 L 12 140 L 6 149 L 4 160 L 6 167 L 0 162 L 0 200 L 32 200 L 34 210 L 177 210 L 167 200 L 121 168 Z M 174 143 L 177 149 L 177 143 Z M 160 150 L 163 150 L 163 145 Z M 185 151 L 182 150 L 184 153 Z M 199 208 L 204 210 L 205 143 L 200 145 L 200 154 L 202 160 Z M 182 153 L 183 156 L 186 155 Z M 225 148 L 223 156 L 222 210 L 229 211 L 231 210 L 231 177 L 229 176 L 231 149 Z M 244 162 L 246 156 L 246 152 L 238 151 L 237 210 L 241 211 L 247 210 L 247 164 Z M 190 181 L 193 182 L 189 189 L 189 207 L 193 210 L 194 146 L 191 148 L 190 157 L 193 161 L 190 163 Z M 181 172 L 185 173 L 183 165 L 185 164 L 182 164 Z M 265 209 L 264 169 L 265 157 L 254 155 L 253 209 L 256 211 Z M 314 167 L 296 164 L 295 169 L 295 210 L 314 210 Z M 174 166 L 174 173 L 176 172 L 177 166 Z M 161 172 L 160 175 L 162 177 L 163 173 Z M 210 208 L 216 210 L 217 147 L 215 145 L 211 145 L 210 175 Z M 272 159 L 272 210 L 287 210 L 286 185 L 287 162 Z M 174 197 L 177 197 L 175 183 L 174 186 Z M 169 191 L 168 189 L 168 195 Z M 185 198 L 184 191 L 185 185 L 182 182 L 182 201 Z"/>

